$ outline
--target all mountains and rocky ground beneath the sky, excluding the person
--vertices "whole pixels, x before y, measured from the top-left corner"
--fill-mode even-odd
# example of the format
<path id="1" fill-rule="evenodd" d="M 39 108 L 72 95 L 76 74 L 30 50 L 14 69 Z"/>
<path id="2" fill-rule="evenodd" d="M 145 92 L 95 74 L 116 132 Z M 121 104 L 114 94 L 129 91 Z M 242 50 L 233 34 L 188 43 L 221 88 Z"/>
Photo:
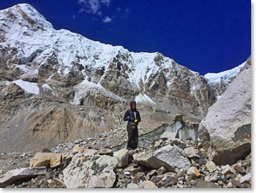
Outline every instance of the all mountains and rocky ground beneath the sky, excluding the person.
<path id="1" fill-rule="evenodd" d="M 0 187 L 251 187 L 250 57 L 202 77 L 158 52 L 55 30 L 18 4 L 0 10 L 0 58 Z"/>

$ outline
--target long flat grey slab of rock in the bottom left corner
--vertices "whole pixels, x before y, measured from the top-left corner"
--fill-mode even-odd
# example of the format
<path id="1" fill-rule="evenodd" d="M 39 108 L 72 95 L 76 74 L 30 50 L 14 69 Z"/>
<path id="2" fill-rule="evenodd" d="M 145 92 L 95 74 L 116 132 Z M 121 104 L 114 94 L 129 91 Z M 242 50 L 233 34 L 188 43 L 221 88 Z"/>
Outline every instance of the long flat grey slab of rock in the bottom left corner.
<path id="1" fill-rule="evenodd" d="M 39 175 L 44 175 L 45 173 L 46 167 L 13 169 L 0 176 L 0 187 L 6 187 L 19 180 L 33 178 Z"/>

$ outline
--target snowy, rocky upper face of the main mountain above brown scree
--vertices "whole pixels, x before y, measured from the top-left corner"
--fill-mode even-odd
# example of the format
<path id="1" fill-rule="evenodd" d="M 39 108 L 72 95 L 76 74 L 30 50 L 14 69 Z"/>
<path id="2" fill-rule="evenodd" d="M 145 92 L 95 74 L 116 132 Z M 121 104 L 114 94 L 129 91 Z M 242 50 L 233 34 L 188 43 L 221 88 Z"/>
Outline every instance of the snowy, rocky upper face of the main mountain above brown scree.
<path id="1" fill-rule="evenodd" d="M 52 93 L 76 105 L 98 93 L 117 102 L 167 102 L 204 114 L 215 101 L 203 77 L 173 59 L 159 52 L 129 52 L 66 29 L 55 30 L 25 3 L 0 11 L 1 52 L 4 65 L 15 72 L 9 82 L 19 83 L 24 74 L 36 75 L 39 94 Z M 22 81 L 21 86 L 28 85 L 27 79 Z"/>

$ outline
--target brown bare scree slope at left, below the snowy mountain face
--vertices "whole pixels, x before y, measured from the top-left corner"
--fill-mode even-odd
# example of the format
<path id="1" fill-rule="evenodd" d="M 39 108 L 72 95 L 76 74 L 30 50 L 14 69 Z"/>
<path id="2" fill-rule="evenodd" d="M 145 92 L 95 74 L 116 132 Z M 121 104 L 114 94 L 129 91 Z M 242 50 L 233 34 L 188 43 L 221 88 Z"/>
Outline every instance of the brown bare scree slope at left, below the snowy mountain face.
<path id="1" fill-rule="evenodd" d="M 120 124 L 119 114 L 105 119 L 99 109 L 77 108 L 47 96 L 2 100 L 0 107 L 0 152 L 52 148 L 61 141 L 93 136 Z"/>

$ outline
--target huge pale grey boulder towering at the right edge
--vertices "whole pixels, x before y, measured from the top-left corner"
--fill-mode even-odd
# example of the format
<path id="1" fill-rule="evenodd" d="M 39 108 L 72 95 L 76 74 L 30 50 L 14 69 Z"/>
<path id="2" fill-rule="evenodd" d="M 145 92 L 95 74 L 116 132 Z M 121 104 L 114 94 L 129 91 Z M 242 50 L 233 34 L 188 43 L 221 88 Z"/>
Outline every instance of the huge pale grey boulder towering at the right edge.
<path id="1" fill-rule="evenodd" d="M 251 68 L 243 70 L 199 125 L 199 138 L 216 164 L 234 164 L 251 151 Z"/>

